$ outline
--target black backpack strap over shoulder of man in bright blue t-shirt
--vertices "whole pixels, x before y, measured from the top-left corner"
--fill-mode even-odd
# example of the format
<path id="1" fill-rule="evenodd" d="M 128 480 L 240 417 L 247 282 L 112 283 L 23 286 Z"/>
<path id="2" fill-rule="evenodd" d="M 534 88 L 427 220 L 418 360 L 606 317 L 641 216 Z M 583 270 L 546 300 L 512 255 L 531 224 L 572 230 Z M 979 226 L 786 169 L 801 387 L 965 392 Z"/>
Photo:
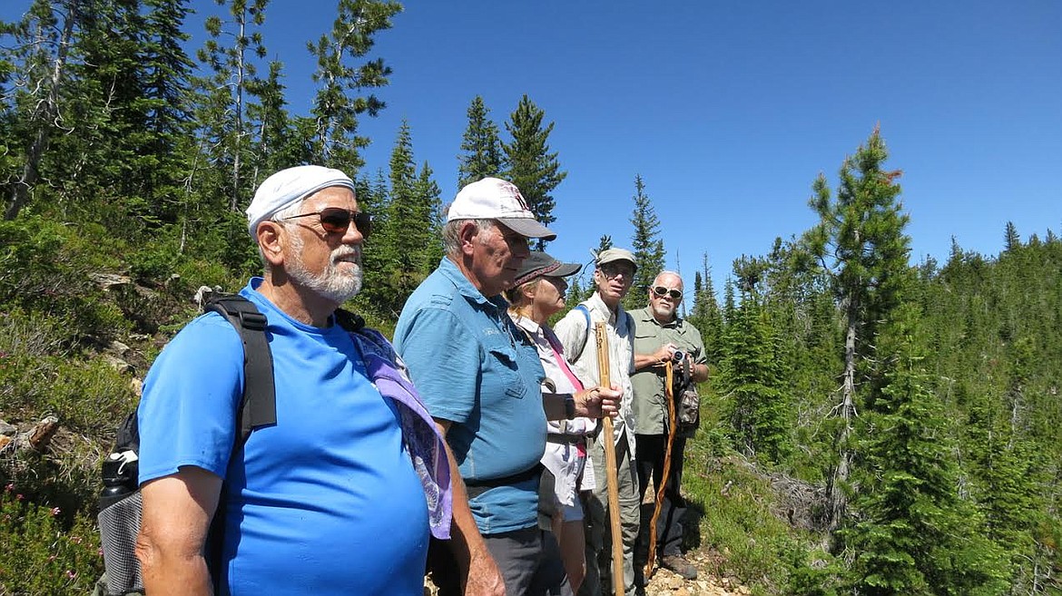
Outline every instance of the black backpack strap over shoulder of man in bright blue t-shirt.
<path id="1" fill-rule="evenodd" d="M 225 317 L 243 341 L 243 398 L 237 415 L 242 443 L 254 427 L 276 424 L 273 354 L 266 337 L 266 315 L 251 300 L 236 294 L 212 296 L 203 310 Z"/>

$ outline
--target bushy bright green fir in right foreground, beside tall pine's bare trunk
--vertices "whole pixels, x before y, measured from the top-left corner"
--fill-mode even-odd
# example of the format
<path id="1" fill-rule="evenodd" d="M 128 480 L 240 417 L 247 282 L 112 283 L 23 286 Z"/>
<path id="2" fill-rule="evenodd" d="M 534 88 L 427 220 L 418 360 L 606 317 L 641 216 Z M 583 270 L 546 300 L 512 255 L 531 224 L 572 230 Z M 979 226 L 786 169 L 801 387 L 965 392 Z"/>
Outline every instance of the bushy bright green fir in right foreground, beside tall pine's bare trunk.
<path id="1" fill-rule="evenodd" d="M 881 595 L 994 595 L 1006 586 L 1000 549 L 956 490 L 946 418 L 926 389 L 917 308 L 900 306 L 878 335 L 883 374 L 863 416 L 871 467 L 857 493 L 860 520 L 847 534 L 856 590 Z"/>

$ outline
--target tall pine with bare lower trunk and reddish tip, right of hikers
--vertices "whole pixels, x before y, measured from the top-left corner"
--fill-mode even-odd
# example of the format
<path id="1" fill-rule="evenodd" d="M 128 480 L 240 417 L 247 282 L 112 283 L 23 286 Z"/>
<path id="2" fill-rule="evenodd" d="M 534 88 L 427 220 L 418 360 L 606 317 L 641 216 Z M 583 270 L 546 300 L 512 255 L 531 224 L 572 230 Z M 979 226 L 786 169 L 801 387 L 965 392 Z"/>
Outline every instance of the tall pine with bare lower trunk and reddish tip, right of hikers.
<path id="1" fill-rule="evenodd" d="M 877 128 L 854 156 L 844 160 L 836 200 L 825 176 L 815 182 L 810 206 L 820 223 L 805 234 L 810 255 L 829 276 L 835 298 L 844 312 L 844 368 L 841 398 L 835 411 L 837 461 L 830 474 L 826 515 L 832 529 L 840 526 L 847 506 L 846 485 L 854 457 L 853 422 L 857 388 L 864 384 L 866 363 L 878 327 L 897 306 L 907 269 L 908 216 L 897 200 L 900 171 L 883 169 L 888 157 Z"/>

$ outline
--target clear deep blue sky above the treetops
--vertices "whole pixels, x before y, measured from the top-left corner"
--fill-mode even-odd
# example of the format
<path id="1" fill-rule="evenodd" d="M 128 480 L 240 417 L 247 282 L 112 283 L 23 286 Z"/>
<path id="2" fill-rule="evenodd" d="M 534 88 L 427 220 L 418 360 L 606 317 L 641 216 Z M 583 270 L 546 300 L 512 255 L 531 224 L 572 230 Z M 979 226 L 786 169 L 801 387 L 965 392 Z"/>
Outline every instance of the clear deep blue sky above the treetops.
<path id="1" fill-rule="evenodd" d="M 187 29 L 202 39 L 199 18 Z M 332 18 L 319 0 L 267 10 L 293 111 L 312 92 L 305 42 Z M 691 284 L 707 253 L 719 290 L 736 257 L 815 223 L 811 182 L 823 172 L 836 187 L 877 123 L 904 171 L 913 262 L 945 260 L 953 236 L 996 255 L 1008 221 L 1023 238 L 1062 232 L 1057 0 L 411 0 L 371 55 L 394 74 L 377 93 L 387 109 L 362 122 L 366 171 L 387 168 L 406 119 L 444 200 L 475 95 L 502 132 L 524 93 L 545 109 L 568 172 L 549 247 L 564 260 L 585 262 L 604 233 L 630 245 L 640 174 L 668 265 Z"/>

